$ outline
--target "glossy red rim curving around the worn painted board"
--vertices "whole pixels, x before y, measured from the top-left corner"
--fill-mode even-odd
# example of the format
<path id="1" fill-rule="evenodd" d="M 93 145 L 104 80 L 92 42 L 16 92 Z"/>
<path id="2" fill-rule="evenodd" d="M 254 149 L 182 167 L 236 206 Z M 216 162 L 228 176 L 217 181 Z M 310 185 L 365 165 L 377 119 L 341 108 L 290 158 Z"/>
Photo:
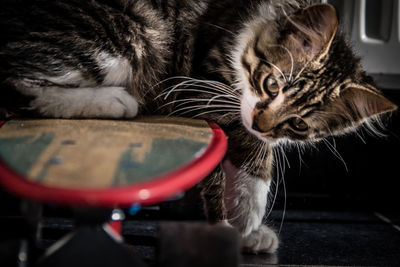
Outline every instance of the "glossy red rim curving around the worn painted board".
<path id="1" fill-rule="evenodd" d="M 5 122 L 0 121 L 0 127 Z M 21 197 L 68 206 L 115 207 L 135 203 L 154 204 L 194 186 L 222 160 L 228 147 L 225 133 L 215 123 L 208 123 L 212 139 L 205 151 L 187 165 L 154 177 L 150 181 L 109 189 L 66 189 L 33 183 L 8 167 L 0 158 L 0 184 Z"/>

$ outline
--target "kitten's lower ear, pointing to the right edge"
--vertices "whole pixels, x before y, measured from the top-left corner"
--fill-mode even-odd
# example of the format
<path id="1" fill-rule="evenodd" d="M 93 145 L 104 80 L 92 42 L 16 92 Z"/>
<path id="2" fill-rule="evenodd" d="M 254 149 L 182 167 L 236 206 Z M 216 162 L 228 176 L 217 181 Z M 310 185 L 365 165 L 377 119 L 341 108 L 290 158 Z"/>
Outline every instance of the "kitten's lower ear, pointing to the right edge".
<path id="1" fill-rule="evenodd" d="M 394 111 L 397 106 L 378 91 L 351 84 L 328 104 L 328 109 L 331 114 L 337 114 L 350 120 L 350 123 L 357 124 L 369 117 Z"/>

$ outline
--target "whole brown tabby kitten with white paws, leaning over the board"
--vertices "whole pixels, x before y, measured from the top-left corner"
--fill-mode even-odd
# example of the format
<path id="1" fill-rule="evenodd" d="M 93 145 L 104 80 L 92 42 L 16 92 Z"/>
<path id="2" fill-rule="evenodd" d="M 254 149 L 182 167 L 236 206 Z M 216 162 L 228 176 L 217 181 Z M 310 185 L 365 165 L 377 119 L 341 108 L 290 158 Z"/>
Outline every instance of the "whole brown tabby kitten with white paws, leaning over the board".
<path id="1" fill-rule="evenodd" d="M 228 153 L 203 183 L 211 222 L 273 253 L 262 224 L 274 149 L 354 131 L 397 107 L 307 0 L 36 0 L 0 4 L 0 108 L 58 118 L 216 121 Z"/>

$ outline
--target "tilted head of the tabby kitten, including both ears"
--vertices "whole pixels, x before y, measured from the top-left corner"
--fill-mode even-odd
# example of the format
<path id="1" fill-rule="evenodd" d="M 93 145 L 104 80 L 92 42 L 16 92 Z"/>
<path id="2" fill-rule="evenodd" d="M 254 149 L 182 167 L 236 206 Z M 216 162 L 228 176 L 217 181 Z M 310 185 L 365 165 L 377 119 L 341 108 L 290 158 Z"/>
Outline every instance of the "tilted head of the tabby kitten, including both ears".
<path id="1" fill-rule="evenodd" d="M 236 72 L 248 131 L 272 142 L 315 141 L 397 108 L 343 40 L 332 6 L 313 5 L 271 23 L 249 24 L 240 37 Z"/>

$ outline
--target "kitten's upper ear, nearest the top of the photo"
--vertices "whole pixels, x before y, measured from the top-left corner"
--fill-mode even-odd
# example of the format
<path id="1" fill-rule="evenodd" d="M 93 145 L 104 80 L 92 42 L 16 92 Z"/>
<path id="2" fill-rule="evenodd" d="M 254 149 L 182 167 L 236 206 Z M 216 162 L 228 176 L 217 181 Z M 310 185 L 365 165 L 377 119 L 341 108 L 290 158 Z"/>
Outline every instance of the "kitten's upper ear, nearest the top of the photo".
<path id="1" fill-rule="evenodd" d="M 338 28 L 336 10 L 316 4 L 290 15 L 285 22 L 285 42 L 306 60 L 319 60 L 328 51 Z"/>

